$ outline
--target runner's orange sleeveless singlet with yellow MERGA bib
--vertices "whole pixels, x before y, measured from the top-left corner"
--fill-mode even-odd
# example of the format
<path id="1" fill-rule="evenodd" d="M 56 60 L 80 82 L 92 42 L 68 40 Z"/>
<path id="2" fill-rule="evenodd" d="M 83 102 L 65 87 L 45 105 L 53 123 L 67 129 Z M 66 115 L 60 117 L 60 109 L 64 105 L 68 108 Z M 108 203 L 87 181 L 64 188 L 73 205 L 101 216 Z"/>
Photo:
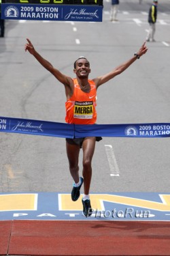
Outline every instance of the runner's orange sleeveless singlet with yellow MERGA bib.
<path id="1" fill-rule="evenodd" d="M 95 83 L 92 80 L 88 80 L 91 87 L 88 93 L 80 89 L 77 79 L 73 79 L 73 83 L 73 95 L 65 102 L 65 122 L 68 124 L 95 124 L 97 119 L 97 90 Z"/>

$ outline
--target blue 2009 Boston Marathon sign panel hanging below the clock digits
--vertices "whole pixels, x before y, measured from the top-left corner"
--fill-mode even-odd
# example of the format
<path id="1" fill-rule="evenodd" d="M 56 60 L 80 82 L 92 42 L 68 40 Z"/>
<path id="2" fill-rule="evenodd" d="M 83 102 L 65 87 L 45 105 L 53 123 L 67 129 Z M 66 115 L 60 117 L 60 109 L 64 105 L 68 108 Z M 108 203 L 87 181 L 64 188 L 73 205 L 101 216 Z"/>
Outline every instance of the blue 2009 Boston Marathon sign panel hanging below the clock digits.
<path id="1" fill-rule="evenodd" d="M 102 21 L 103 6 L 1 3 L 1 18 L 10 20 Z"/>

